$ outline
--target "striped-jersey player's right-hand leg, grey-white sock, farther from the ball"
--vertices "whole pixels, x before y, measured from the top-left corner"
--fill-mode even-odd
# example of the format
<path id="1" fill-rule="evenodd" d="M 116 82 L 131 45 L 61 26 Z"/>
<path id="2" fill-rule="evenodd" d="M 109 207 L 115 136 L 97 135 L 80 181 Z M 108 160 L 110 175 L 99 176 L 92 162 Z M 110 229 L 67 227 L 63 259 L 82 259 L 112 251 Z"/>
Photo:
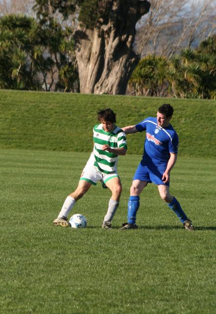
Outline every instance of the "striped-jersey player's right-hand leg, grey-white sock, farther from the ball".
<path id="1" fill-rule="evenodd" d="M 119 201 L 122 191 L 122 186 L 119 177 L 115 177 L 106 182 L 106 186 L 111 190 L 112 196 L 109 201 L 107 213 L 104 217 L 102 228 L 110 229 L 111 221 L 119 207 Z"/>

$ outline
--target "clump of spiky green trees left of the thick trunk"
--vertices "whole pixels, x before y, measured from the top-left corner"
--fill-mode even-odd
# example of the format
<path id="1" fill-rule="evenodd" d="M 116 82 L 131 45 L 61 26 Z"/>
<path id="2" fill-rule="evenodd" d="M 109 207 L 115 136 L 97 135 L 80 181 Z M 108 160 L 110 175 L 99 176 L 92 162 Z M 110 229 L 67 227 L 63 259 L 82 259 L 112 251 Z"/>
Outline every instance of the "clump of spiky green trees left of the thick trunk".
<path id="1" fill-rule="evenodd" d="M 0 18 L 0 87 L 77 91 L 71 31 L 57 23 L 43 27 L 34 18 Z"/>

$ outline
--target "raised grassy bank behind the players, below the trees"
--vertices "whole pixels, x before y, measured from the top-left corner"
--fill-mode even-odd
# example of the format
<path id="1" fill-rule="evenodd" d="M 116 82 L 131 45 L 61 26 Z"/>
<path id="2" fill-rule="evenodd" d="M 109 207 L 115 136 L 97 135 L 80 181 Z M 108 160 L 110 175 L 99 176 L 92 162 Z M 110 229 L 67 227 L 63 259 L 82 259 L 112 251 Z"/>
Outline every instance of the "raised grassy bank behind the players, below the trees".
<path id="1" fill-rule="evenodd" d="M 216 102 L 109 95 L 0 90 L 0 148 L 86 152 L 92 150 L 96 110 L 111 107 L 120 127 L 173 105 L 179 155 L 216 157 Z M 128 153 L 141 154 L 143 134 L 128 135 Z"/>

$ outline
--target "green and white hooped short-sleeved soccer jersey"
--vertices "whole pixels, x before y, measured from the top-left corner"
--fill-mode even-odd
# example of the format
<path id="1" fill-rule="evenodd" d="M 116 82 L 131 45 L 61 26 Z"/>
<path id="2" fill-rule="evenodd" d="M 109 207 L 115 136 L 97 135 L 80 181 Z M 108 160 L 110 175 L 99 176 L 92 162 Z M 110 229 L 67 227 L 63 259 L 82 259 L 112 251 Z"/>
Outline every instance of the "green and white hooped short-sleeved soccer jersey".
<path id="1" fill-rule="evenodd" d="M 93 128 L 93 140 L 95 157 L 94 165 L 102 172 L 108 174 L 117 170 L 118 155 L 102 151 L 104 144 L 112 148 L 123 147 L 127 149 L 126 137 L 124 131 L 115 126 L 112 132 L 105 132 L 102 124 L 96 125 Z"/>

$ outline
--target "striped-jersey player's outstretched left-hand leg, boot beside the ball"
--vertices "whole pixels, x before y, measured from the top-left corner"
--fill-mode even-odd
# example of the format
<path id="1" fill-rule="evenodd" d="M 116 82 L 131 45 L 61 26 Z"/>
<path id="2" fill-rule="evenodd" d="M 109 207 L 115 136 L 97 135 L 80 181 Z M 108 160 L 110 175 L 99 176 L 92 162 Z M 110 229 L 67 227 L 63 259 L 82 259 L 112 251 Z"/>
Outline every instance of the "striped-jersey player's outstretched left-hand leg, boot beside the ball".
<path id="1" fill-rule="evenodd" d="M 67 216 L 69 212 L 75 206 L 76 201 L 78 201 L 89 190 L 91 185 L 92 184 L 88 181 L 79 181 L 77 188 L 66 198 L 58 217 L 53 221 L 55 226 L 68 227 L 69 223 L 67 221 Z"/>

